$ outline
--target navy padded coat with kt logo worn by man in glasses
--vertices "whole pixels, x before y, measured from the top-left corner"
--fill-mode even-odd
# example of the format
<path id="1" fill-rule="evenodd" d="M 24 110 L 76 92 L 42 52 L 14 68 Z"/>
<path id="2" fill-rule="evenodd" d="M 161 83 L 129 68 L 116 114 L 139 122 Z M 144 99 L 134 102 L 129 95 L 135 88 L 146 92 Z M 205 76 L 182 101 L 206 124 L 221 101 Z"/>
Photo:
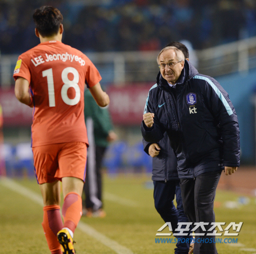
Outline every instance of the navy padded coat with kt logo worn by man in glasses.
<path id="1" fill-rule="evenodd" d="M 185 60 L 176 88 L 158 75 L 146 99 L 146 112 L 155 117 L 151 128 L 142 121 L 143 138 L 155 143 L 167 131 L 180 178 L 240 165 L 238 118 L 229 95 L 190 62 Z"/>

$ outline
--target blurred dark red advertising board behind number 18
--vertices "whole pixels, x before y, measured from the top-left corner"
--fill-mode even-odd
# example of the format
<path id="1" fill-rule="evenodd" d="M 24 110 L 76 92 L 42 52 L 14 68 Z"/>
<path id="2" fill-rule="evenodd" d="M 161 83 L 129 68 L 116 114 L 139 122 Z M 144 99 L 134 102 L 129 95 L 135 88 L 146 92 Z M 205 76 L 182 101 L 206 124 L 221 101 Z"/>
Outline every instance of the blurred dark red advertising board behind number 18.
<path id="1" fill-rule="evenodd" d="M 146 97 L 152 84 L 127 84 L 125 87 L 110 86 L 107 93 L 110 96 L 110 114 L 114 124 L 140 125 Z M 31 126 L 32 108 L 20 103 L 14 88 L 0 89 L 0 103 L 3 109 L 5 127 Z"/>

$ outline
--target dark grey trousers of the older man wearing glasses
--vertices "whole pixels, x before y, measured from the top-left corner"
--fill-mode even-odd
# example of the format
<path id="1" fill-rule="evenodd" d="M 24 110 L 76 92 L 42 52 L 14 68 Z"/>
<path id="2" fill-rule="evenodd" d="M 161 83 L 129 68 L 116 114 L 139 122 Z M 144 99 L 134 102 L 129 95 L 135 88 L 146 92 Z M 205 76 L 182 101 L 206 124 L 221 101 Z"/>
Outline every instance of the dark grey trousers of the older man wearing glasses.
<path id="1" fill-rule="evenodd" d="M 207 232 L 200 227 L 195 230 L 195 233 L 213 233 L 213 230 L 208 230 L 212 227 L 211 222 L 215 222 L 213 202 L 220 175 L 221 170 L 218 170 L 198 175 L 195 179 L 181 179 L 184 211 L 190 222 L 209 222 L 210 224 L 205 226 Z M 209 238 L 210 243 L 204 243 L 205 238 Z M 214 243 L 215 236 L 195 236 L 195 240 L 194 254 L 218 254 Z"/>

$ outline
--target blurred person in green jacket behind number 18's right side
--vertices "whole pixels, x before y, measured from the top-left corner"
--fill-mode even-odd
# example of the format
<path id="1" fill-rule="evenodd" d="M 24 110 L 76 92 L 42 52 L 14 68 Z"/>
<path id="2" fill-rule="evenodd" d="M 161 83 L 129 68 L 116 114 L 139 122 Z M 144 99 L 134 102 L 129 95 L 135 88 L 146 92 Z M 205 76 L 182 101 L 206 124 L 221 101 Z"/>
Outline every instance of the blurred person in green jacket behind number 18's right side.
<path id="1" fill-rule="evenodd" d="M 97 105 L 89 89 L 84 91 L 84 119 L 90 146 L 87 151 L 82 214 L 86 217 L 104 218 L 106 212 L 102 210 L 102 159 L 109 143 L 115 141 L 117 135 L 113 131 L 108 107 Z"/>

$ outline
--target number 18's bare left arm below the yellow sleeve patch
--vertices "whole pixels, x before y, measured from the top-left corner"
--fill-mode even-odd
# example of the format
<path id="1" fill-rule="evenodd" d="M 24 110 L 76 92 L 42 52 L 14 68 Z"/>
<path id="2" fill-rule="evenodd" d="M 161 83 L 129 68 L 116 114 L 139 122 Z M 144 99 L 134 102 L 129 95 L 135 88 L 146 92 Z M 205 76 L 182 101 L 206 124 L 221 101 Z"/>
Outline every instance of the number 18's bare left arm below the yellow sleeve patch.
<path id="1" fill-rule="evenodd" d="M 24 79 L 22 77 L 18 77 L 15 81 L 15 96 L 16 98 L 21 102 L 24 103 L 30 107 L 33 107 L 33 99 L 30 96 L 29 93 L 29 82 L 27 79 Z"/>

